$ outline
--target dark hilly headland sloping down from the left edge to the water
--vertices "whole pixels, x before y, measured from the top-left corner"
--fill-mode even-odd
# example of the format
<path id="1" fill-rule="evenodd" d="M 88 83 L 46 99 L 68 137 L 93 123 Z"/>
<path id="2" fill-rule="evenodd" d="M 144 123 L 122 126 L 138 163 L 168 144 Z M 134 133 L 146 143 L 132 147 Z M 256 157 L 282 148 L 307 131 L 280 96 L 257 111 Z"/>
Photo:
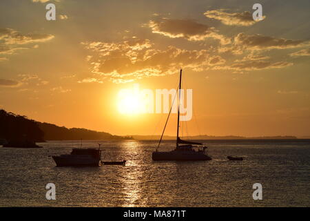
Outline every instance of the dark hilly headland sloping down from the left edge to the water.
<path id="1" fill-rule="evenodd" d="M 42 123 L 0 109 L 0 145 L 14 146 L 45 142 L 46 140 L 127 140 L 132 137 L 91 131 L 85 128 L 65 128 Z M 19 144 L 19 145 L 17 145 Z"/>

